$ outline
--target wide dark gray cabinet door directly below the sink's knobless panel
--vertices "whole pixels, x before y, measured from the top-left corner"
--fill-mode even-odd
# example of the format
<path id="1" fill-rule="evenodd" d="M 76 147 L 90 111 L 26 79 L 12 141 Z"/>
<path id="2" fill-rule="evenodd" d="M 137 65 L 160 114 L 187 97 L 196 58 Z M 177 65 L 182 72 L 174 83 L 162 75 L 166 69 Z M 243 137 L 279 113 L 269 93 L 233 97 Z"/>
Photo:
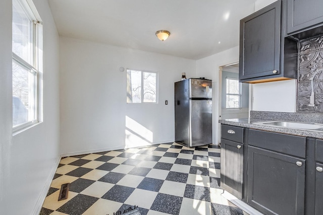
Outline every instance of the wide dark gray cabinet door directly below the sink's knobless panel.
<path id="1" fill-rule="evenodd" d="M 247 203 L 265 214 L 294 215 L 304 214 L 304 202 L 305 160 L 248 146 Z"/>

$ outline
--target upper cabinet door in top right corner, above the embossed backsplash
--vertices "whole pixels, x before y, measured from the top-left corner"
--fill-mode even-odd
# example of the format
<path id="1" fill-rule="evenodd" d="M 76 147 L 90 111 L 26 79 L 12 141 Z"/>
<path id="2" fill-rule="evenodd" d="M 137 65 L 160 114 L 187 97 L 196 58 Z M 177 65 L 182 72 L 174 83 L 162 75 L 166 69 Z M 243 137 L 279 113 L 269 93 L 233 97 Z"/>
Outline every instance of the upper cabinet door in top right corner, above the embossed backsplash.
<path id="1" fill-rule="evenodd" d="M 288 0 L 287 34 L 307 30 L 323 23 L 322 0 Z"/>

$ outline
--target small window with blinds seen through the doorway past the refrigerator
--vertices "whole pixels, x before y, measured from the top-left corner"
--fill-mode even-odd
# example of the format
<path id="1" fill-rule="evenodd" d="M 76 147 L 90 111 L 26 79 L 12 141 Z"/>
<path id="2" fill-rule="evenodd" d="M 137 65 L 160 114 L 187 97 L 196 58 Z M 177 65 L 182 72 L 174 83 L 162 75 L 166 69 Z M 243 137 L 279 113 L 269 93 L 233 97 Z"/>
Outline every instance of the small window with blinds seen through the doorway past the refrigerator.
<path id="1" fill-rule="evenodd" d="M 226 78 L 226 108 L 241 108 L 241 83 L 238 79 Z"/>

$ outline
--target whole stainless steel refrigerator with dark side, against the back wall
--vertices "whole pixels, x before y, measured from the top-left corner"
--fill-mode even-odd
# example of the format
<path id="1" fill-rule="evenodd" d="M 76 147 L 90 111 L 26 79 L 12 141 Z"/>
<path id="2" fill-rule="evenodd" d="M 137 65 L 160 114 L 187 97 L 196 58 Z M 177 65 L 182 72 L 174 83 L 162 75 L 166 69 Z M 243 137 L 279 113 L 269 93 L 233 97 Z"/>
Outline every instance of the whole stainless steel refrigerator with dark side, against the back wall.
<path id="1" fill-rule="evenodd" d="M 212 143 L 212 81 L 175 83 L 175 141 L 188 147 Z"/>

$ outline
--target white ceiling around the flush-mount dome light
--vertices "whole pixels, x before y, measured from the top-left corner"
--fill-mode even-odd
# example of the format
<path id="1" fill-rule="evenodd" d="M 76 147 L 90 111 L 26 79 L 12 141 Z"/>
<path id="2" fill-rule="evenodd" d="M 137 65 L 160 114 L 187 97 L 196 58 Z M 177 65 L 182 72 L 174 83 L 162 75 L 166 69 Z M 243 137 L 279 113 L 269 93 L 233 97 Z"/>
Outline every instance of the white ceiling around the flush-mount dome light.
<path id="1" fill-rule="evenodd" d="M 239 44 L 256 0 L 48 0 L 60 36 L 188 59 Z M 160 41 L 157 30 L 170 37 Z"/>

